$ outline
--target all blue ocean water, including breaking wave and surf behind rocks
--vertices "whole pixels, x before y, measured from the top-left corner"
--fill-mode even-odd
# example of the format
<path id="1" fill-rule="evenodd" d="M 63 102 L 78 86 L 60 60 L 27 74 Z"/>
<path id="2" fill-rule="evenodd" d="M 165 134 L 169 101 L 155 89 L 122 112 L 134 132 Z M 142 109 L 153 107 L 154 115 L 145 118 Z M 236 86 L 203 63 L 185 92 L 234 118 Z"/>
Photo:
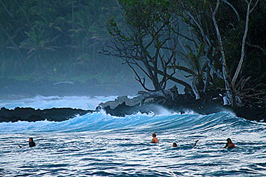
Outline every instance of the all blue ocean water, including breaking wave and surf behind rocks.
<path id="1" fill-rule="evenodd" d="M 0 100 L 0 106 L 94 109 L 109 99 L 38 96 Z M 124 118 L 99 112 L 64 122 L 2 122 L 0 176 L 266 176 L 265 128 L 229 112 L 165 108 Z M 150 143 L 153 132 L 160 143 Z M 29 137 L 36 147 L 28 147 Z M 228 138 L 236 149 L 223 149 Z"/>

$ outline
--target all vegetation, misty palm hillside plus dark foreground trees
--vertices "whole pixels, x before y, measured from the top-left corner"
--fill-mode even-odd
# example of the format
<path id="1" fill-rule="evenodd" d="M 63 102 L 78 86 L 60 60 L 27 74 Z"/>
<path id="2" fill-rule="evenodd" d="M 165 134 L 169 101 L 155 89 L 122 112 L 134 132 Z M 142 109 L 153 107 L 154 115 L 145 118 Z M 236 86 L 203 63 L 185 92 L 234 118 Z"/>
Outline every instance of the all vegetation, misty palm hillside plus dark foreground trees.
<path id="1" fill-rule="evenodd" d="M 233 106 L 265 101 L 265 9 L 262 0 L 0 0 L 0 77 L 117 85 L 135 75 L 149 91 L 172 80 L 196 99 L 220 89 Z"/>

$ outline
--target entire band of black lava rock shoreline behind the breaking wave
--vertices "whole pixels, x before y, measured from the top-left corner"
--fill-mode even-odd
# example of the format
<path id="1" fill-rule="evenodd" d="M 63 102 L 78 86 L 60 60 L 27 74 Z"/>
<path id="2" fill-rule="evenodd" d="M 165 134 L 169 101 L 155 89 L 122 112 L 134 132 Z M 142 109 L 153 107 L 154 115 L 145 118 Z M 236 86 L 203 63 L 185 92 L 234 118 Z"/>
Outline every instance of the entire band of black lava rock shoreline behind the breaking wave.
<path id="1" fill-rule="evenodd" d="M 247 104 L 246 106 L 232 108 L 223 106 L 223 97 L 218 90 L 211 90 L 204 94 L 201 99 L 196 100 L 190 94 L 179 94 L 173 87 L 165 92 L 139 92 L 136 97 L 118 97 L 113 101 L 106 101 L 99 104 L 95 111 L 104 110 L 110 115 L 123 117 L 134 113 L 155 113 L 160 114 L 163 109 L 167 111 L 186 113 L 193 111 L 202 115 L 230 111 L 238 117 L 257 122 L 266 122 L 266 104 Z M 50 108 L 35 110 L 34 108 L 15 108 L 8 110 L 1 108 L 0 122 L 28 121 L 35 122 L 40 120 L 64 121 L 76 115 L 85 115 L 94 111 L 85 111 L 73 108 Z"/>

